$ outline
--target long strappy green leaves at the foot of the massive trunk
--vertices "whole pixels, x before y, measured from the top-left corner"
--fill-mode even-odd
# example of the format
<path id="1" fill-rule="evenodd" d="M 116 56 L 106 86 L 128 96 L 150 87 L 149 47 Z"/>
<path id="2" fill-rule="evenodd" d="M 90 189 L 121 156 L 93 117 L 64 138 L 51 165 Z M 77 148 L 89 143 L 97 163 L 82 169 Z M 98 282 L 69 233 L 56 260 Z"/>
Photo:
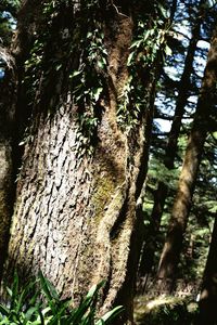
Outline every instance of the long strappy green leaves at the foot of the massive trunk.
<path id="1" fill-rule="evenodd" d="M 24 287 L 20 285 L 15 273 L 11 288 L 7 288 L 8 303 L 0 304 L 1 325 L 104 325 L 123 312 L 123 307 L 116 307 L 95 320 L 99 291 L 104 285 L 94 285 L 77 308 L 71 308 L 71 299 L 61 299 L 54 286 L 42 273 Z M 42 298 L 42 299 L 41 299 Z"/>

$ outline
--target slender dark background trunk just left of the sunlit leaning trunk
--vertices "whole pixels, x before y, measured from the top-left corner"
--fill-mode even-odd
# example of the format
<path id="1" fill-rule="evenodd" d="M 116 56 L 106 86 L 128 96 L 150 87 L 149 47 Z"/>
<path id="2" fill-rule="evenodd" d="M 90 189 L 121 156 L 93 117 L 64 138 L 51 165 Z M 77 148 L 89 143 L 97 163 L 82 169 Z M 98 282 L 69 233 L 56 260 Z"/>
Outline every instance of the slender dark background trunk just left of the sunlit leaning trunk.
<path id="1" fill-rule="evenodd" d="M 177 143 L 178 143 L 178 138 L 181 129 L 181 120 L 184 114 L 184 108 L 189 96 L 189 89 L 191 86 L 190 77 L 193 68 L 192 65 L 194 60 L 194 53 L 196 50 L 196 43 L 200 39 L 201 24 L 202 24 L 202 18 L 200 17 L 192 29 L 192 38 L 190 40 L 188 53 L 184 61 L 184 69 L 179 82 L 179 93 L 177 98 L 174 120 L 168 135 L 168 142 L 165 150 L 165 158 L 164 158 L 164 165 L 169 170 L 174 168 L 175 158 L 177 154 Z M 149 273 L 151 273 L 152 271 L 155 247 L 156 247 L 156 236 L 159 230 L 161 219 L 164 211 L 167 193 L 168 193 L 168 185 L 162 181 L 158 182 L 156 192 L 154 194 L 154 205 L 151 214 L 151 223 L 148 231 L 148 239 L 146 243 L 144 244 L 142 258 L 140 261 L 139 277 L 146 278 Z M 142 291 L 144 291 L 145 289 L 145 283 L 146 281 L 144 281 L 144 286 L 142 285 L 140 286 L 140 289 Z"/>

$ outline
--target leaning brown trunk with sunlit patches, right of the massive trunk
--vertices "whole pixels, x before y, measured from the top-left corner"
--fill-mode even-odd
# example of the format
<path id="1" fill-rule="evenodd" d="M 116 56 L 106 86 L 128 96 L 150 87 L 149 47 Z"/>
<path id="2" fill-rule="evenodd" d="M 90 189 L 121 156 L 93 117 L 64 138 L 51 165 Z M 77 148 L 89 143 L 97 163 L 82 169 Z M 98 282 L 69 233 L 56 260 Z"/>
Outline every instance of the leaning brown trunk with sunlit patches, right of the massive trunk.
<path id="1" fill-rule="evenodd" d="M 217 38 L 215 31 L 171 211 L 168 233 L 158 265 L 158 283 L 162 289 L 166 290 L 171 290 L 174 286 L 203 146 L 207 131 L 213 125 L 212 118 L 215 115 L 214 103 L 217 82 L 216 53 Z"/>

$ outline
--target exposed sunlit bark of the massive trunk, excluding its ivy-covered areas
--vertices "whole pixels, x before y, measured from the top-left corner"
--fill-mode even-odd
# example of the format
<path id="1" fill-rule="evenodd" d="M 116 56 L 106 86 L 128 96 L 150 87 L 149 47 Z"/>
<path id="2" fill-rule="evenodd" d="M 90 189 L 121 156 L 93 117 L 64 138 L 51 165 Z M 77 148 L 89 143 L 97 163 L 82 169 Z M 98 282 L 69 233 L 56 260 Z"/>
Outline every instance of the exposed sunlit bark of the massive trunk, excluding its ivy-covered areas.
<path id="1" fill-rule="evenodd" d="M 127 268 L 136 235 L 138 178 L 145 178 L 145 172 L 141 173 L 148 159 L 145 121 L 148 127 L 151 121 L 144 109 L 133 134 L 117 123 L 133 26 L 127 15 L 127 10 L 124 14 L 115 11 L 107 18 L 115 28 L 110 31 L 105 27 L 107 83 L 92 156 L 80 156 L 80 107 L 71 91 L 61 94 L 65 79 L 54 75 L 50 84 L 39 90 L 17 182 L 4 275 L 14 269 L 23 276 L 41 270 L 63 297 L 71 296 L 74 301 L 105 278 L 100 313 L 122 302 L 131 324 L 133 282 Z M 61 104 L 49 113 L 47 105 L 56 104 L 56 99 Z"/>

